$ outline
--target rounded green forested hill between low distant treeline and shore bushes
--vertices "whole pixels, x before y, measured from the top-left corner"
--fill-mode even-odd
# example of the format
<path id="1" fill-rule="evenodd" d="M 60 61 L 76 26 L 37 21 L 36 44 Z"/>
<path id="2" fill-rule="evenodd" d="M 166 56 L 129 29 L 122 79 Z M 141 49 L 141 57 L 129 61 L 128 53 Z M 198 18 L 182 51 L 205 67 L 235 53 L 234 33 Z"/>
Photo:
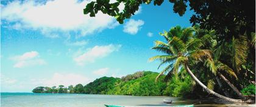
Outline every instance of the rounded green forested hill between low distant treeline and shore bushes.
<path id="1" fill-rule="evenodd" d="M 101 77 L 88 83 L 84 87 L 87 94 L 121 94 L 132 96 L 160 96 L 165 83 L 162 81 L 154 82 L 158 73 L 150 71 L 140 71 L 129 74 L 122 79 L 113 77 Z"/>

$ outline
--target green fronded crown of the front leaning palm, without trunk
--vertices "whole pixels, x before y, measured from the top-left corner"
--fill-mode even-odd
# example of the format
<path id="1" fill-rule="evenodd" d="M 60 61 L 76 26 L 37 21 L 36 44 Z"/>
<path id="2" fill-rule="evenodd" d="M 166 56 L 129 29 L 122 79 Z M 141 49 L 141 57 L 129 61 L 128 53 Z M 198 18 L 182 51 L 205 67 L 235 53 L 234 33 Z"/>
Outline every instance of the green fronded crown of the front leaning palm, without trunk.
<path id="1" fill-rule="evenodd" d="M 168 64 L 165 69 L 157 76 L 166 74 L 165 80 L 178 73 L 181 65 L 189 60 L 202 61 L 211 59 L 209 52 L 201 50 L 202 41 L 194 36 L 194 28 L 182 28 L 179 25 L 172 27 L 168 32 L 160 33 L 165 37 L 166 42 L 156 41 L 152 49 L 160 51 L 163 55 L 151 57 L 149 60 L 160 60 L 160 65 Z M 207 57 L 205 57 L 207 56 Z M 159 68 L 159 67 L 158 67 Z"/>

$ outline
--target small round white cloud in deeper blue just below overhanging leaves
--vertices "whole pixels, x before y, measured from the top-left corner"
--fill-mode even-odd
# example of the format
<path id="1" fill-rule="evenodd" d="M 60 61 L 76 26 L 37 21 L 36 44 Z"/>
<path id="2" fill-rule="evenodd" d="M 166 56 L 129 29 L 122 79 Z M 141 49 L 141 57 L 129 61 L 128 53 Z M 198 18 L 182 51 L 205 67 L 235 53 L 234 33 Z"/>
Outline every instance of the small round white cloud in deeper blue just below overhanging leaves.
<path id="1" fill-rule="evenodd" d="M 130 19 L 126 24 L 124 25 L 124 32 L 129 34 L 136 34 L 140 29 L 141 26 L 144 24 L 144 21 L 142 20 L 134 20 Z"/>

